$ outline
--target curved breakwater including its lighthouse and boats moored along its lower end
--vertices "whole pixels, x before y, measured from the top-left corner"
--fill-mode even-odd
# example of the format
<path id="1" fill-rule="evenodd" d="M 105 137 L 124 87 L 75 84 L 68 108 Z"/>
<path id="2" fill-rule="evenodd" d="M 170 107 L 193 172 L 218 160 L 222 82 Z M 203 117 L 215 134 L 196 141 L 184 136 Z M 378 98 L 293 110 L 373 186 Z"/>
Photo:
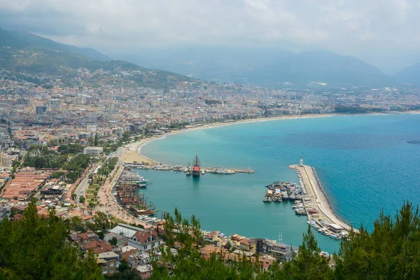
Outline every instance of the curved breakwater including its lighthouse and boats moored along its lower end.
<path id="1" fill-rule="evenodd" d="M 318 232 L 337 239 L 344 237 L 350 230 L 356 230 L 341 221 L 334 213 L 316 176 L 314 167 L 303 165 L 301 159 L 299 165 L 290 165 L 289 168 L 297 172 L 302 192 L 305 193 L 302 195 L 301 202 L 295 202 L 297 205 L 295 209 L 300 209 L 301 214 L 308 216 L 307 223 L 316 228 Z"/>

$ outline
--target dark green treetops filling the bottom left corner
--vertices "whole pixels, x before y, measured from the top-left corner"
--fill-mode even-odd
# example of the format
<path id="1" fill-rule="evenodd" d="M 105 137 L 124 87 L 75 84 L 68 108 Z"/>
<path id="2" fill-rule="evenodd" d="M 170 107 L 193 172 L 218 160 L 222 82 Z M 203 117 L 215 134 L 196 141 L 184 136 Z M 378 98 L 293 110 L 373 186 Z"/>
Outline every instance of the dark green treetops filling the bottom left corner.
<path id="1" fill-rule="evenodd" d="M 0 224 L 0 279 L 103 279 L 96 257 L 69 241 L 69 221 L 39 218 L 29 204 L 22 221 Z"/>

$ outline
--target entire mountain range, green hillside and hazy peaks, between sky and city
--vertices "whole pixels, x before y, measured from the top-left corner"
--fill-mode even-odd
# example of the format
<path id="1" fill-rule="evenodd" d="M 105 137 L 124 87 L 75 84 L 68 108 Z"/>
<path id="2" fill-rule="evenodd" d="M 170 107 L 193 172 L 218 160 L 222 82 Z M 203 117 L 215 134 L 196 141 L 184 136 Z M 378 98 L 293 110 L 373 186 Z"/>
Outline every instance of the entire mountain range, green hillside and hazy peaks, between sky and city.
<path id="1" fill-rule="evenodd" d="M 0 29 L 0 47 L 0 68 L 10 71 L 67 77 L 79 68 L 114 72 L 128 69 L 141 72 L 136 77 L 125 76 L 128 84 L 151 87 L 175 87 L 185 82 L 198 84 L 197 78 L 265 87 L 314 82 L 366 87 L 397 86 L 400 83 L 420 85 L 420 64 L 388 76 L 357 57 L 324 50 L 295 53 L 281 48 L 196 46 L 143 49 L 132 55 L 126 55 L 127 52 L 117 55 L 133 64 L 111 60 L 91 48 L 77 48 L 29 32 L 3 29 Z"/>

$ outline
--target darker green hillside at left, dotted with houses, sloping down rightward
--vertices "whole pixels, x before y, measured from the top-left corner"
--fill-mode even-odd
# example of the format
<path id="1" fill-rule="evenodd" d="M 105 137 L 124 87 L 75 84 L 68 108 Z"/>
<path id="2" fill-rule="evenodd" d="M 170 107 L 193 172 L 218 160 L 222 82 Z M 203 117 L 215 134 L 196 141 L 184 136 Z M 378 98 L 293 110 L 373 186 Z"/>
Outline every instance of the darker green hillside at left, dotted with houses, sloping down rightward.
<path id="1" fill-rule="evenodd" d="M 194 78 L 150 70 L 130 62 L 103 61 L 92 57 L 105 58 L 96 50 L 56 43 L 27 32 L 0 29 L 0 69 L 12 73 L 46 74 L 60 78 L 67 85 L 80 84 L 80 69 L 91 72 L 83 75 L 83 85 L 167 88 L 186 82 L 202 83 Z M 31 81 L 41 84 L 41 80 Z"/>

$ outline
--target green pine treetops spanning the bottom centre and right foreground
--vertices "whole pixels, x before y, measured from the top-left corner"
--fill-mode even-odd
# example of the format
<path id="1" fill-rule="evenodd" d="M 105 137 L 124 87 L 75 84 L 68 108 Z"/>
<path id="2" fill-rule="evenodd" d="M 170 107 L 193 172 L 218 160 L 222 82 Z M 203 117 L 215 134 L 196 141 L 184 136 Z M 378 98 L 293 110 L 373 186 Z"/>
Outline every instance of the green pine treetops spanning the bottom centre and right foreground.
<path id="1" fill-rule="evenodd" d="M 372 232 L 360 228 L 342 242 L 339 254 L 331 258 L 319 255 L 316 239 L 308 228 L 299 253 L 290 262 L 275 263 L 268 271 L 258 262 L 244 258 L 239 262 L 223 262 L 220 255 L 202 258 L 199 237 L 188 237 L 188 229 L 197 232 L 200 222 L 193 216 L 183 219 L 165 214 L 167 244 L 181 244 L 179 255 L 162 251 L 160 262 L 153 264 L 152 279 L 419 279 L 420 217 L 419 210 L 409 202 L 395 215 L 381 214 Z"/>

